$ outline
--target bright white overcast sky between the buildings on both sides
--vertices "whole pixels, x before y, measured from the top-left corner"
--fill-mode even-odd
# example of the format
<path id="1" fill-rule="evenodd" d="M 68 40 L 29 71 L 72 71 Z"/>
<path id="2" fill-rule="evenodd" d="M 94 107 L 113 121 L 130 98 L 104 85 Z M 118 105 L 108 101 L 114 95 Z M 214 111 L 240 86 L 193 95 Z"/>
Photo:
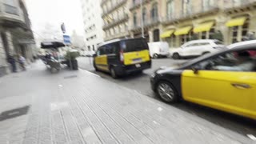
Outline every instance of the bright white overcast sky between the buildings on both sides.
<path id="1" fill-rule="evenodd" d="M 35 33 L 42 34 L 46 24 L 52 25 L 50 30 L 61 31 L 60 26 L 65 22 L 68 34 L 76 30 L 83 35 L 80 0 L 26 0 L 26 6 Z"/>

